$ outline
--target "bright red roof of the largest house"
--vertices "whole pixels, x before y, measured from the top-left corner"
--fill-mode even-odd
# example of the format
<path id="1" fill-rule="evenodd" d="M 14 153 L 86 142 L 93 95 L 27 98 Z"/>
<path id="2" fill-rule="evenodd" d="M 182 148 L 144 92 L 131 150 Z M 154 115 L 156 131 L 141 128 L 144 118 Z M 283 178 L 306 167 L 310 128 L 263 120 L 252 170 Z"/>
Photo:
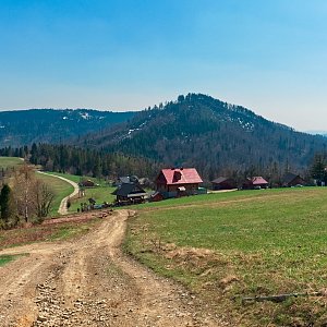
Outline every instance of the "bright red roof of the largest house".
<path id="1" fill-rule="evenodd" d="M 162 169 L 167 185 L 203 183 L 195 168 Z"/>

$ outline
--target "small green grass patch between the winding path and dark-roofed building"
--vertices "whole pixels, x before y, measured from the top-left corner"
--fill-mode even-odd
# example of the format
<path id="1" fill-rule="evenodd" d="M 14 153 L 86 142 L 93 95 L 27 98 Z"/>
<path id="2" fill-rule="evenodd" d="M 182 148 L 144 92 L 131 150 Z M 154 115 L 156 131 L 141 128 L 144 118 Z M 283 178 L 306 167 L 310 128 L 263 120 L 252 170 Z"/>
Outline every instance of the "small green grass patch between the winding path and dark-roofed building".
<path id="1" fill-rule="evenodd" d="M 69 173 L 60 173 L 60 172 L 51 172 L 51 174 L 63 177 L 75 183 L 78 183 L 81 181 L 80 175 L 74 175 L 74 174 L 69 174 Z M 71 207 L 69 208 L 70 213 L 76 213 L 77 208 L 81 208 L 81 203 L 88 203 L 88 198 L 90 198 L 90 197 L 94 198 L 97 204 L 102 204 L 104 202 L 107 202 L 107 203 L 113 202 L 116 196 L 112 195 L 111 193 L 116 190 L 116 187 L 108 185 L 104 179 L 95 179 L 95 178 L 89 178 L 89 177 L 84 177 L 84 179 L 92 180 L 95 183 L 97 183 L 99 186 L 86 187 L 85 196 L 78 197 L 78 198 L 72 198 Z"/>

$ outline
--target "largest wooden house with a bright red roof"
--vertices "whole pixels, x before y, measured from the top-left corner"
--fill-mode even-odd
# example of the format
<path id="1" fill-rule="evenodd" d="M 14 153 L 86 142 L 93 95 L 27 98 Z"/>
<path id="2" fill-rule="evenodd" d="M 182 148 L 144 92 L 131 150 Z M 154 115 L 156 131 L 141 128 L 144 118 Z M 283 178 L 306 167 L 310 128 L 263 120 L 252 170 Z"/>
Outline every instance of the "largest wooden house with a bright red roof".
<path id="1" fill-rule="evenodd" d="M 195 168 L 162 169 L 156 179 L 157 191 L 165 198 L 206 193 L 201 183 L 203 180 Z"/>

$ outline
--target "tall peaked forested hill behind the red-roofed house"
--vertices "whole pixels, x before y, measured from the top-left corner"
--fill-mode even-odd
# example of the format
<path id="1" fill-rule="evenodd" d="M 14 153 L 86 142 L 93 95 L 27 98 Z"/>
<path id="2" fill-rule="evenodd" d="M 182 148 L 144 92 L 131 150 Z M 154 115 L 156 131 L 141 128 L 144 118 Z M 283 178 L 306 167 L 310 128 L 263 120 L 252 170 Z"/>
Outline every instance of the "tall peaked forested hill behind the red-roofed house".
<path id="1" fill-rule="evenodd" d="M 227 170 L 305 169 L 314 154 L 325 149 L 327 140 L 295 132 L 240 106 L 189 94 L 138 112 L 120 128 L 87 135 L 78 144 L 167 166 L 196 167 L 214 178 Z"/>

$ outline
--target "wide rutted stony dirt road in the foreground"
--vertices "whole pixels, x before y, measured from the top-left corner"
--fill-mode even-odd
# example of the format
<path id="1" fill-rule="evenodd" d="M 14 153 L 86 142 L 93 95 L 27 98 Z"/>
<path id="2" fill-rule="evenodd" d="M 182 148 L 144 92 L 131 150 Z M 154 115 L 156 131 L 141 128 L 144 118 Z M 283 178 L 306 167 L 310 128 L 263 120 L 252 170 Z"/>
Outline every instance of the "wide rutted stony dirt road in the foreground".
<path id="1" fill-rule="evenodd" d="M 0 251 L 29 254 L 0 268 L 0 326 L 220 326 L 197 298 L 122 254 L 131 214 L 74 242 Z"/>

